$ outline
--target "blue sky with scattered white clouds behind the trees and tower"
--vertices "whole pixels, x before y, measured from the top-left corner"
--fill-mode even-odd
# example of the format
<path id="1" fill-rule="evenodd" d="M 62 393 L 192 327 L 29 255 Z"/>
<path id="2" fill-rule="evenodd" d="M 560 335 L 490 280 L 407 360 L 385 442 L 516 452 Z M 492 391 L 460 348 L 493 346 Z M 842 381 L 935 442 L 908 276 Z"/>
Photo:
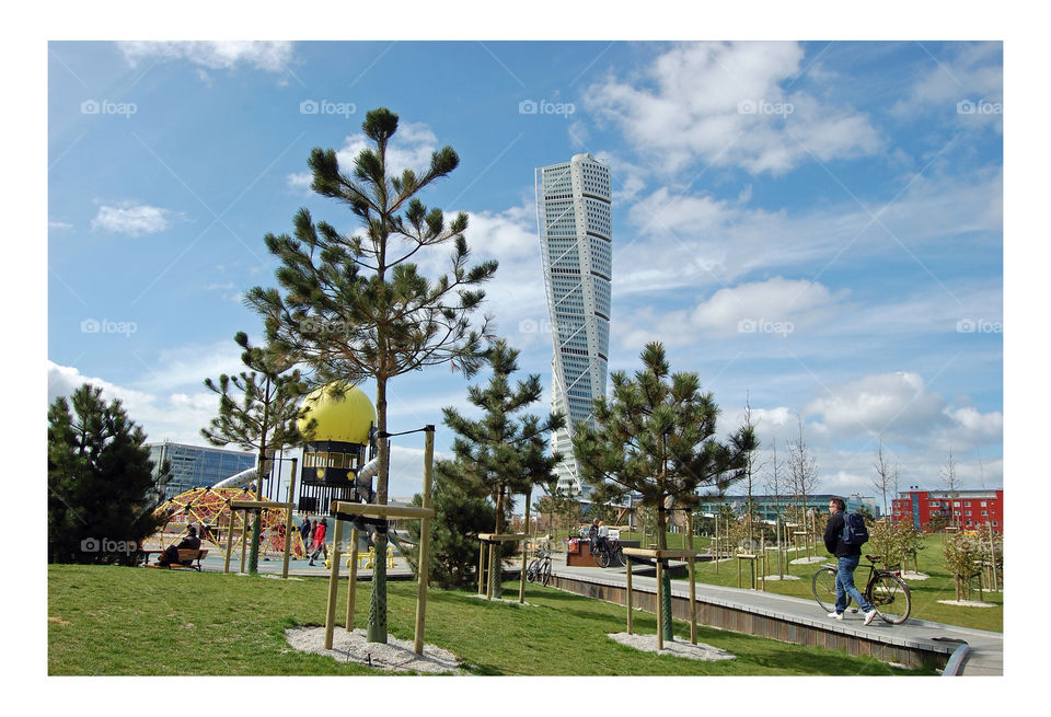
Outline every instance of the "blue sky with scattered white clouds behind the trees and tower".
<path id="1" fill-rule="evenodd" d="M 48 400 L 91 380 L 151 440 L 198 442 L 216 405 L 201 381 L 238 370 L 235 332 L 261 333 L 240 297 L 275 285 L 263 235 L 301 206 L 355 227 L 309 193 L 309 151 L 349 161 L 365 113 L 388 106 L 395 160 L 460 154 L 424 200 L 471 215 L 475 256 L 500 262 L 486 310 L 545 386 L 533 169 L 588 151 L 613 174 L 611 369 L 665 342 L 723 429 L 748 396 L 763 452 L 783 454 L 801 419 L 822 492 L 871 495 L 877 440 L 902 487 L 936 488 L 950 448 L 966 487 L 1003 485 L 1001 43 L 51 42 L 47 56 Z M 424 257 L 428 275 L 446 255 Z M 392 429 L 440 426 L 466 385 L 443 369 L 395 380 Z M 392 495 L 418 490 L 419 460 L 397 447 Z"/>

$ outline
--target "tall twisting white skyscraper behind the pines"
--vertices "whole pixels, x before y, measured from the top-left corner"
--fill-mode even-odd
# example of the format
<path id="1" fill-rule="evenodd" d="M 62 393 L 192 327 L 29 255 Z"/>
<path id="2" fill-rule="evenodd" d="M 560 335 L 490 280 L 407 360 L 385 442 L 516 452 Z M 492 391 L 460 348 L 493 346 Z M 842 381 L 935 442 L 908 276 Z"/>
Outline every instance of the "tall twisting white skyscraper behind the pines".
<path id="1" fill-rule="evenodd" d="M 558 487 L 587 497 L 573 455 L 573 425 L 589 420 L 592 400 L 605 395 L 610 352 L 610 169 L 590 154 L 536 170 L 536 219 L 547 288 L 554 358 L 553 409 L 567 427 L 552 437 L 566 459 Z"/>

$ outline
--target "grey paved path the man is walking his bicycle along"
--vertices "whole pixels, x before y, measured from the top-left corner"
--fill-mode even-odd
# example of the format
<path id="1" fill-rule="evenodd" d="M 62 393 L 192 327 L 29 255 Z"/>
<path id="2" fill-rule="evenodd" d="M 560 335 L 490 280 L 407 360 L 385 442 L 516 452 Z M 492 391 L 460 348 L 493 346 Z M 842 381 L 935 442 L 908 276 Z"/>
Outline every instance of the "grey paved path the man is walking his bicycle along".
<path id="1" fill-rule="evenodd" d="M 619 568 L 579 568 L 566 567 L 557 556 L 552 563 L 552 573 L 574 577 L 588 582 L 600 585 L 626 586 L 627 570 Z M 562 560 L 565 560 L 562 557 Z M 638 568 L 632 570 L 632 588 L 648 592 L 657 591 L 657 578 L 638 575 Z M 688 580 L 672 580 L 671 591 L 677 597 L 689 600 L 690 582 Z M 845 620 L 838 622 L 828 617 L 813 600 L 792 598 L 761 590 L 742 590 L 739 588 L 723 588 L 697 583 L 697 599 L 706 602 L 743 608 L 750 612 L 765 615 L 786 616 L 797 622 L 820 624 L 834 632 L 852 635 L 866 635 L 874 638 L 890 637 L 898 639 L 945 644 L 946 641 L 963 641 L 970 646 L 970 656 L 963 664 L 962 674 L 971 675 L 1003 675 L 1004 673 L 1004 635 L 982 629 L 957 627 L 925 620 L 906 620 L 901 625 L 890 625 L 877 617 L 871 625 L 864 625 L 862 613 L 847 612 Z"/>

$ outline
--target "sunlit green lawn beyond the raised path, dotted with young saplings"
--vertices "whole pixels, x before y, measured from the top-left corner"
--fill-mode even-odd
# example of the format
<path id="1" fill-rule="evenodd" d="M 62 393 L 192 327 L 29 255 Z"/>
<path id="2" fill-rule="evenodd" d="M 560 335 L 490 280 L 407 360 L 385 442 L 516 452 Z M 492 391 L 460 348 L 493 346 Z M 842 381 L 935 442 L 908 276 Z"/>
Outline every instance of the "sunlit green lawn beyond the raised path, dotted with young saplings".
<path id="1" fill-rule="evenodd" d="M 679 547 L 679 535 L 674 536 L 675 542 L 669 542 L 669 546 Z M 703 543 L 702 543 L 703 541 Z M 706 539 L 696 539 L 695 548 L 702 550 L 701 545 L 707 545 Z M 942 535 L 927 535 L 924 539 L 924 547 L 919 553 L 920 571 L 931 576 L 927 580 L 906 580 L 909 591 L 912 594 L 912 614 L 910 617 L 916 620 L 928 620 L 948 625 L 958 625 L 960 627 L 971 627 L 974 629 L 986 629 L 1002 633 L 1004 631 L 1004 594 L 1003 592 L 983 592 L 982 598 L 985 602 L 993 603 L 993 608 L 965 608 L 958 605 L 946 605 L 939 600 L 956 600 L 956 588 L 954 587 L 952 576 L 949 575 L 945 566 Z M 865 551 L 863 548 L 862 553 Z M 812 555 L 813 553 L 811 553 Z M 789 559 L 805 554 L 786 553 Z M 831 562 L 833 558 L 824 552 L 822 545 L 819 556 L 825 557 Z M 777 575 L 777 563 L 773 553 L 770 557 L 770 569 L 767 575 Z M 863 560 L 864 563 L 865 560 Z M 797 576 L 799 580 L 767 580 L 766 590 L 778 594 L 793 595 L 796 598 L 812 599 L 810 579 L 820 564 L 810 565 L 788 565 L 787 574 Z M 913 567 L 912 560 L 909 562 L 909 569 Z M 743 565 L 742 585 L 749 585 L 749 567 Z M 859 589 L 864 588 L 863 581 L 868 578 L 868 571 L 858 568 L 856 582 Z M 1001 578 L 1002 580 L 1002 578 Z M 737 560 L 724 560 L 716 566 L 714 563 L 697 563 L 697 582 L 707 585 L 718 585 L 725 587 L 737 587 Z M 1002 583 L 1002 582 L 1001 582 Z M 971 594 L 971 600 L 978 600 L 978 591 Z M 817 608 L 817 604 L 815 604 Z"/>

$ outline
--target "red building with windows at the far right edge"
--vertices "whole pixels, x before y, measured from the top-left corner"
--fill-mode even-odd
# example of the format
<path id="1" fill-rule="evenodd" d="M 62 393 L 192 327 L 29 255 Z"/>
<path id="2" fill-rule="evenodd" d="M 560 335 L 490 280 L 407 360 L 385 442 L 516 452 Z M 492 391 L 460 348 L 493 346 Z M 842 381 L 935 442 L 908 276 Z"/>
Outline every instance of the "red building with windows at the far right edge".
<path id="1" fill-rule="evenodd" d="M 935 516 L 943 516 L 951 525 L 963 530 L 986 523 L 994 533 L 1004 532 L 1004 490 L 920 490 L 913 487 L 894 498 L 891 520 L 894 523 L 911 521 L 925 533 L 927 523 Z"/>

